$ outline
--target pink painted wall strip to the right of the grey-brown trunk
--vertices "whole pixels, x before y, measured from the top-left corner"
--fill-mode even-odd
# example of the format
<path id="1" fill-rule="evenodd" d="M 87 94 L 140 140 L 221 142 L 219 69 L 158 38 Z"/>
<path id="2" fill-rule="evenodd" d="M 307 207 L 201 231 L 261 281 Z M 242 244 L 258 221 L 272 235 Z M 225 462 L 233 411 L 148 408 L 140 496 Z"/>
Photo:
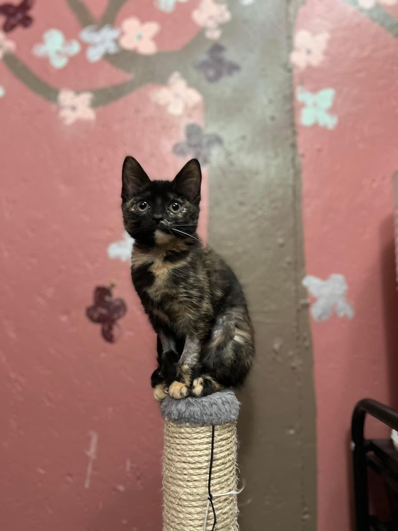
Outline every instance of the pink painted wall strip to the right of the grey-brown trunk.
<path id="1" fill-rule="evenodd" d="M 398 406 L 392 192 L 398 42 L 358 4 L 308 0 L 299 12 L 298 54 L 292 56 L 296 89 L 335 91 L 328 110 L 321 103 L 309 116 L 301 114 L 306 103 L 296 101 L 306 270 L 323 280 L 343 275 L 354 311 L 312 320 L 320 531 L 337 523 L 350 528 L 348 429 L 354 404 L 369 396 Z M 388 12 L 398 18 L 398 5 Z M 303 39 L 300 30 L 327 35 Z M 324 112 L 332 116 L 326 118 L 330 129 Z M 309 125 L 314 115 L 317 123 Z"/>

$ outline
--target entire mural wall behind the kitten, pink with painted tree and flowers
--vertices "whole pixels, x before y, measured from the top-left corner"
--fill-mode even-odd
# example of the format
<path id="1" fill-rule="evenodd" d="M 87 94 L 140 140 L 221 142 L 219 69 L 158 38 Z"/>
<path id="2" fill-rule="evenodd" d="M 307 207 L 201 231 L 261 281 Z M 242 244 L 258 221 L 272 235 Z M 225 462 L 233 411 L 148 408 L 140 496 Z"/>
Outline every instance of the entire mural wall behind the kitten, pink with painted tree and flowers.
<path id="1" fill-rule="evenodd" d="M 241 528 L 348 531 L 352 407 L 398 406 L 395 4 L 0 4 L 2 531 L 161 528 L 128 154 L 201 160 L 200 234 L 248 295 Z"/>

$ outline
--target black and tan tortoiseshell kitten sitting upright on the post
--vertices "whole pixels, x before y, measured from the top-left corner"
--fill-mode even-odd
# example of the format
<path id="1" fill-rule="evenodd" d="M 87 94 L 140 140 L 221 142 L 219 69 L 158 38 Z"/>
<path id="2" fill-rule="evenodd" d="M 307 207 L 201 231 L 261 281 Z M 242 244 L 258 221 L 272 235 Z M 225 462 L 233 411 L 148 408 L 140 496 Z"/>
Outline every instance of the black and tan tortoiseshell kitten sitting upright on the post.
<path id="1" fill-rule="evenodd" d="M 132 279 L 158 334 L 154 395 L 200 397 L 243 383 L 254 331 L 239 281 L 199 240 L 201 167 L 151 181 L 132 157 L 122 170 L 124 226 L 134 238 Z"/>

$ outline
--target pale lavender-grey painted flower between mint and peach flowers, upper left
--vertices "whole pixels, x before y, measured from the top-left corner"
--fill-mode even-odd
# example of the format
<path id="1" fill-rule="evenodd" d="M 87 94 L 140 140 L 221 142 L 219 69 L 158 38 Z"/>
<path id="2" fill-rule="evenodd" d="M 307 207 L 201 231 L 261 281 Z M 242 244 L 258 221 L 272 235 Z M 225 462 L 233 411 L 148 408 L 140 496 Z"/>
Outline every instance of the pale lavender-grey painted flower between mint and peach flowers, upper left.
<path id="1" fill-rule="evenodd" d="M 116 39 L 120 35 L 120 30 L 106 24 L 103 28 L 96 29 L 94 25 L 87 26 L 80 32 L 80 38 L 86 44 L 85 56 L 90 63 L 96 63 L 105 54 L 116 54 L 120 48 Z"/>

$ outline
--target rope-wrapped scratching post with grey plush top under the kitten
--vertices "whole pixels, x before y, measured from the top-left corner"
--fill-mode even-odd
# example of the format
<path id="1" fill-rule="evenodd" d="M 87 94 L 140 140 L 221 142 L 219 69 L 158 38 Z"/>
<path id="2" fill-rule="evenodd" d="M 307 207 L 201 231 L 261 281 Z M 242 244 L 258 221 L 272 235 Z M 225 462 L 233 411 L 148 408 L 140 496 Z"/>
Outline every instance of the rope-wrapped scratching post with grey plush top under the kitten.
<path id="1" fill-rule="evenodd" d="M 163 531 L 238 531 L 235 393 L 167 397 L 161 412 Z"/>

